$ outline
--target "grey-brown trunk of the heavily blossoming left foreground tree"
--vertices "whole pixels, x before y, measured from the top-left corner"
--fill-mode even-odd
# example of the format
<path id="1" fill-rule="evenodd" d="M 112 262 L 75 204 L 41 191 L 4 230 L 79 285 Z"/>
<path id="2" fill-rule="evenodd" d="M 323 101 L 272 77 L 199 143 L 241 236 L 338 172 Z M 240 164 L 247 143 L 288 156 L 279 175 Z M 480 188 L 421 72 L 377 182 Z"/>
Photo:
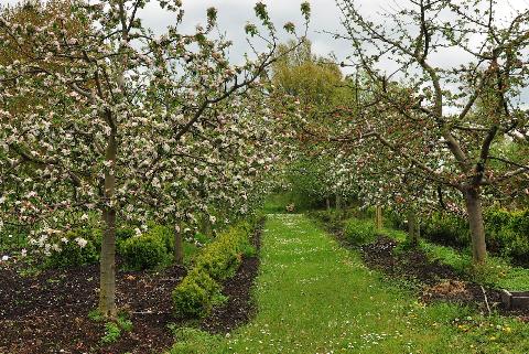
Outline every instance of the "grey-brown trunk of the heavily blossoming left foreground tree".
<path id="1" fill-rule="evenodd" d="M 116 167 L 117 143 L 112 131 L 106 151 L 106 160 Z M 99 311 L 105 317 L 116 317 L 116 207 L 111 199 L 116 190 L 115 172 L 105 172 L 105 200 L 108 203 L 102 211 L 105 233 L 101 242 L 100 278 L 99 278 Z"/>

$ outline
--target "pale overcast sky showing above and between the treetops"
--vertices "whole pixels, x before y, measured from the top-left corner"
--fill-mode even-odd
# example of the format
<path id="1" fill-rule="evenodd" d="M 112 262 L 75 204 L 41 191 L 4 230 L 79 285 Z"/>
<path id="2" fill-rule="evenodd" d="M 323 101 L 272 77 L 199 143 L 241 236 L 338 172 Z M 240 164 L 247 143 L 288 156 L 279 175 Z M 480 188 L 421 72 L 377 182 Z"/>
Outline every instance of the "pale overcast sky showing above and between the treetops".
<path id="1" fill-rule="evenodd" d="M 215 7 L 218 10 L 218 29 L 225 33 L 227 39 L 234 42 L 230 51 L 231 60 L 235 63 L 242 61 L 242 55 L 250 51 L 246 43 L 244 26 L 248 21 L 257 22 L 253 14 L 253 6 L 257 0 L 182 0 L 184 7 L 184 20 L 181 31 L 184 33 L 193 32 L 196 24 L 206 22 L 206 9 Z M 1 4 L 17 3 L 18 0 L 0 0 Z M 282 30 L 282 25 L 292 21 L 299 26 L 303 23 L 300 12 L 302 0 L 263 0 L 267 3 L 270 17 L 276 26 L 280 30 L 280 40 L 287 41 L 289 36 Z M 341 23 L 341 13 L 335 0 L 309 0 L 312 8 L 311 24 L 309 29 L 309 39 L 313 43 L 313 52 L 319 55 L 328 55 L 334 53 L 338 61 L 344 61 L 352 54 L 347 42 L 334 40 L 325 32 L 344 33 Z M 395 9 L 409 4 L 409 0 L 356 0 L 360 7 L 360 12 L 377 22 L 378 12 L 393 11 Z M 457 1 L 455 1 L 457 2 Z M 497 0 L 495 10 L 501 18 L 510 19 L 509 13 L 516 10 L 529 9 L 529 0 Z M 164 29 L 174 23 L 174 17 L 171 13 L 160 9 L 158 1 L 152 0 L 148 7 L 140 12 L 144 24 L 155 32 L 163 32 Z M 444 51 L 435 55 L 435 63 L 441 65 L 454 65 L 465 62 L 467 58 L 464 53 L 453 53 Z M 386 65 L 386 64 L 385 64 Z M 388 69 L 391 68 L 387 63 Z M 529 98 L 529 94 L 523 96 Z M 526 100 L 526 99 L 523 99 Z M 529 99 L 527 99 L 529 100 Z"/>

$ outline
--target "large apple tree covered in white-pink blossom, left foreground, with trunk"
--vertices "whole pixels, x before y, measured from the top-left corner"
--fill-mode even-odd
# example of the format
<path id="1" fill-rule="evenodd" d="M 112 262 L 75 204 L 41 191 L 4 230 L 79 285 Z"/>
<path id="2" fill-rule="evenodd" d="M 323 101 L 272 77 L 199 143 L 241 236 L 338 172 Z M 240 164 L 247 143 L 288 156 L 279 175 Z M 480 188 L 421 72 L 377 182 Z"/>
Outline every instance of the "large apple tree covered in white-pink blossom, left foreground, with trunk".
<path id="1" fill-rule="evenodd" d="M 239 203 L 259 174 L 242 173 L 244 164 L 267 167 L 257 142 L 267 129 L 247 131 L 266 124 L 266 110 L 253 121 L 246 108 L 276 60 L 266 6 L 255 8 L 260 25 L 246 26 L 264 52 L 231 65 L 230 43 L 212 36 L 215 9 L 183 34 L 181 1 L 159 1 L 175 23 L 154 34 L 139 18 L 147 3 L 72 1 L 69 11 L 41 11 L 45 21 L 0 17 L 0 42 L 13 53 L 0 65 L 0 218 L 31 226 L 46 249 L 100 212 L 105 315 L 116 314 L 117 218 L 195 218 L 218 195 L 217 205 Z M 301 9 L 307 22 L 309 4 Z M 284 30 L 302 41 L 292 23 Z"/>

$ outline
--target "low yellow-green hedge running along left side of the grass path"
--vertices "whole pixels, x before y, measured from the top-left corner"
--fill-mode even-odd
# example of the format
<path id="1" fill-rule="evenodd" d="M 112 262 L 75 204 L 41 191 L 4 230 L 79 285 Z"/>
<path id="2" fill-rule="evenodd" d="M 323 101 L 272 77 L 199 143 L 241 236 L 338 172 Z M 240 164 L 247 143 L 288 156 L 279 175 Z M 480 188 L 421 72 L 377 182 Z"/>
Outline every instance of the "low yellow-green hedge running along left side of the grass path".
<path id="1" fill-rule="evenodd" d="M 252 250 L 250 234 L 256 222 L 241 222 L 220 233 L 195 258 L 194 268 L 173 290 L 173 313 L 176 318 L 207 315 L 223 302 L 222 281 L 234 276 L 242 256 Z"/>

